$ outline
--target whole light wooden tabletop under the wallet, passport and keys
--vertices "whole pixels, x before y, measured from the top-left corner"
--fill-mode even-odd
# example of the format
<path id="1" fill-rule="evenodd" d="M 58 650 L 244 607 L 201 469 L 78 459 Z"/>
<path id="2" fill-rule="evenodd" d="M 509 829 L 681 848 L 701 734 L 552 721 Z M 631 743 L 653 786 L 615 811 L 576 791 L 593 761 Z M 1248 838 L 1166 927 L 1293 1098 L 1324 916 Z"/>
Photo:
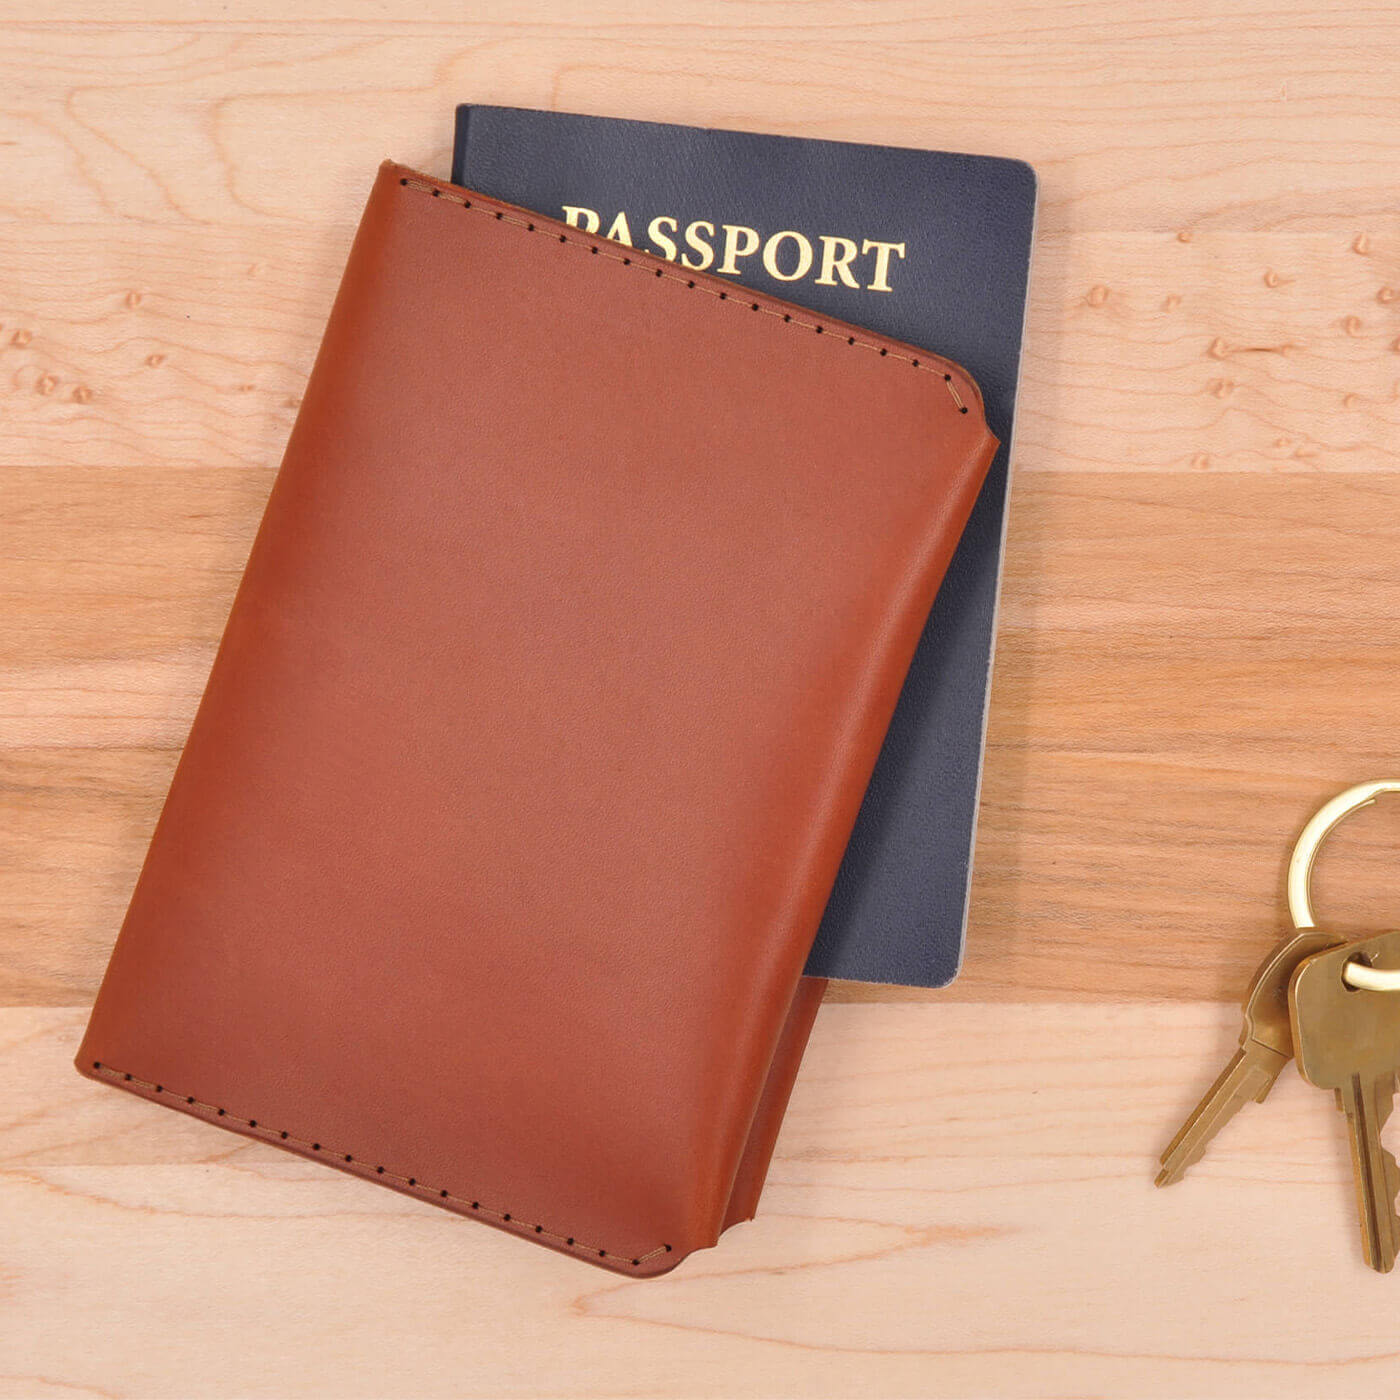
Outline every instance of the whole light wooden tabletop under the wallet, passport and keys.
<path id="1" fill-rule="evenodd" d="M 1151 1180 L 1298 827 L 1400 769 L 1397 63 L 1310 0 L 0 0 L 0 1393 L 1396 1394 L 1323 1095 Z M 967 970 L 833 988 L 659 1282 L 69 1065 L 374 167 L 466 98 L 1042 176 Z"/>

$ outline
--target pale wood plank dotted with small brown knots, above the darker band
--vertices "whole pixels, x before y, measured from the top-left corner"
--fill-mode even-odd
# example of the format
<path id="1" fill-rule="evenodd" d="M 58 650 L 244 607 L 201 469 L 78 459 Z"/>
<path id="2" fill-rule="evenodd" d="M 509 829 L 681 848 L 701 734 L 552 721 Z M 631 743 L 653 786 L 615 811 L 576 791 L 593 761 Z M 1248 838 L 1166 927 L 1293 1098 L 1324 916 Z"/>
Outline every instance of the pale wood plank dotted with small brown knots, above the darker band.
<path id="1" fill-rule="evenodd" d="M 274 465 L 374 164 L 326 225 L 60 223 L 41 258 L 0 224 L 0 461 Z M 1400 227 L 1365 246 L 1042 237 L 1018 473 L 1396 470 Z"/>

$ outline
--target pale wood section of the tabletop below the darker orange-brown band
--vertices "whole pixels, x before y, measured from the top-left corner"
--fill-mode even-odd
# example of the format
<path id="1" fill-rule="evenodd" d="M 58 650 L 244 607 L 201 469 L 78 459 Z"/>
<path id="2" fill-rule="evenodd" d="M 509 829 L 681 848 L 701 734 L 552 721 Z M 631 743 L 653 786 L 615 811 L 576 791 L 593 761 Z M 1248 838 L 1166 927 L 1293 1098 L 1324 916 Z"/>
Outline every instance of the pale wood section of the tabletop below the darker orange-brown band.
<path id="1" fill-rule="evenodd" d="M 104 1092 L 81 1011 L 7 1011 L 0 1394 L 1393 1394 L 1330 1098 L 1289 1071 L 1156 1191 L 1235 1028 L 1144 1014 L 825 1007 L 759 1219 L 636 1282 Z"/>

